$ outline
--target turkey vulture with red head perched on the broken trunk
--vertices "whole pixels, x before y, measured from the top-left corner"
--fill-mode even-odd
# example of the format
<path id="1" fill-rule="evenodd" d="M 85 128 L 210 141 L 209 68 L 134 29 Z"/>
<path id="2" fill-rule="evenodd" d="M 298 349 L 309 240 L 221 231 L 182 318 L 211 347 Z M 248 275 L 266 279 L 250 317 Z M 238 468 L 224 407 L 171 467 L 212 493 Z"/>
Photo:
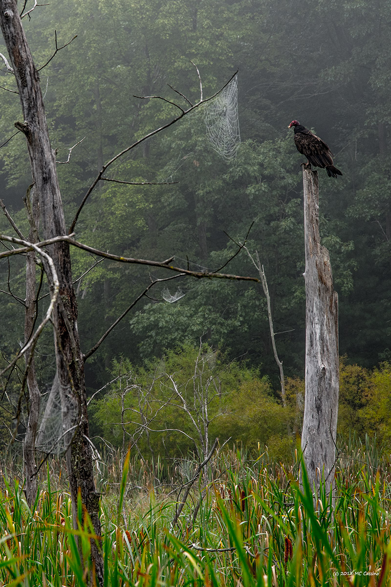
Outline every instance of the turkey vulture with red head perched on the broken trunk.
<path id="1" fill-rule="evenodd" d="M 307 157 L 308 163 L 315 167 L 326 168 L 329 177 L 342 176 L 341 171 L 334 167 L 332 153 L 322 139 L 319 139 L 316 134 L 311 133 L 311 130 L 302 126 L 298 120 L 292 120 L 288 129 L 291 126 L 295 130 L 294 141 L 296 148 L 299 153 Z"/>

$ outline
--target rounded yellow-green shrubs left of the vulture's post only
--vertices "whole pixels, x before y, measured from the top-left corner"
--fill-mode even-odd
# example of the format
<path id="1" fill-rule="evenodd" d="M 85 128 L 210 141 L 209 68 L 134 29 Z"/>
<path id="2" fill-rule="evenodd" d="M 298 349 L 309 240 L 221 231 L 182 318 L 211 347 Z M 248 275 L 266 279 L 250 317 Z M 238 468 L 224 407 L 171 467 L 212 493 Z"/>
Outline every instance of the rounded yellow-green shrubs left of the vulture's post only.
<path id="1" fill-rule="evenodd" d="M 111 390 L 91 405 L 91 423 L 123 451 L 131 443 L 152 461 L 189 452 L 202 461 L 217 437 L 249 449 L 267 444 L 271 456 L 291 458 L 292 441 L 281 438 L 294 426 L 295 398 L 284 410 L 267 377 L 205 345 L 138 369 L 122 360 L 112 376 Z"/>

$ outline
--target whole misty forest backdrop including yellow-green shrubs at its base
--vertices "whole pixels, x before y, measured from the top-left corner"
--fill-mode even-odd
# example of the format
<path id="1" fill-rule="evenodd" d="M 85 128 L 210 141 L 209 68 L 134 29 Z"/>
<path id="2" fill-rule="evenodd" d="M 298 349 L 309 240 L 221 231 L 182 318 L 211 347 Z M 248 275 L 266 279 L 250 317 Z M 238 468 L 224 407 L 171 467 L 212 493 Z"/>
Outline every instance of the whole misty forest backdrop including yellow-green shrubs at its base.
<path id="1" fill-rule="evenodd" d="M 204 381 L 212 375 L 216 384 L 210 436 L 232 437 L 250 448 L 260 441 L 276 458 L 290 454 L 294 433 L 301 430 L 304 394 L 304 158 L 287 129 L 298 119 L 329 144 L 344 174 L 334 180 L 319 170 L 322 244 L 329 249 L 339 294 L 339 431 L 345 437 L 352 430 L 360 437 L 368 433 L 391 449 L 391 4 L 68 0 L 36 9 L 27 21 L 38 67 L 53 54 L 55 30 L 59 46 L 77 35 L 40 72 L 57 160 L 66 161 L 68 149 L 85 137 L 69 163 L 58 165 L 68 225 L 104 162 L 178 113 L 162 100 L 134 96 L 159 95 L 184 107 L 168 84 L 192 102 L 199 99 L 191 60 L 199 68 L 204 97 L 239 69 L 237 157 L 223 160 L 210 144 L 202 113 L 191 114 L 121 158 L 110 175 L 166 184 L 101 181 L 80 215 L 76 237 L 127 257 L 162 261 L 175 255 L 178 265 L 189 262 L 202 271 L 232 257 L 233 241 L 243 242 L 254 221 L 247 247 L 259 252 L 266 272 L 278 354 L 288 378 L 288 410 L 281 403 L 260 284 L 179 278 L 144 296 L 87 361 L 90 397 L 104 388 L 90 403 L 96 442 L 127 443 L 142 417 L 148 419 L 151 402 L 156 411 L 156 402 L 172 393 L 168 375 L 187 389 L 202 340 L 203 375 L 198 375 Z M 5 66 L 0 76 L 1 86 L 15 90 Z M 21 112 L 18 97 L 1 92 L 3 144 Z M 1 198 L 28 234 L 23 197 L 31 176 L 21 133 L 2 146 L 0 156 Z M 3 215 L 0 223 L 1 232 L 11 234 Z M 94 259 L 79 249 L 72 255 L 76 279 Z M 0 271 L 2 291 L 24 299 L 23 258 L 3 261 Z M 245 251 L 225 271 L 257 276 Z M 77 282 L 84 352 L 151 276 L 167 274 L 104 260 Z M 166 287 L 184 295 L 164 301 Z M 2 295 L 0 306 L 2 365 L 23 337 L 23 306 L 13 296 Z M 40 303 L 42 314 L 46 300 Z M 47 329 L 37 354 L 44 391 L 55 374 L 52 337 Z M 11 403 L 18 402 L 19 389 L 15 372 L 7 388 Z M 149 394 L 144 404 L 142 390 Z M 125 433 L 124 406 L 136 410 Z M 15 412 L 5 403 L 1 412 L 6 445 Z M 22 414 L 21 434 L 23 421 Z M 154 429 L 162 427 L 193 436 L 186 414 L 178 415 L 168 400 L 154 419 Z M 140 447 L 169 454 L 194 448 L 183 434 L 173 432 L 165 443 L 164 437 L 141 438 Z"/>

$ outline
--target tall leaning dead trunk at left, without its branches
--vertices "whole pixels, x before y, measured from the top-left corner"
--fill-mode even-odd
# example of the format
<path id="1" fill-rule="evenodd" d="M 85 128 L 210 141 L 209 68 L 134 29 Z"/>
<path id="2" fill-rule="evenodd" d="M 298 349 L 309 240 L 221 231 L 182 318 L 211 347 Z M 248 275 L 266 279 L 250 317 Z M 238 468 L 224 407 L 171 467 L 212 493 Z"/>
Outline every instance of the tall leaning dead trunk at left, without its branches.
<path id="1" fill-rule="evenodd" d="M 25 134 L 27 141 L 34 190 L 39 200 L 40 231 L 45 239 L 66 235 L 55 153 L 50 146 L 39 75 L 15 0 L 0 0 L 0 23 L 22 105 L 23 123 L 16 123 L 15 126 Z M 69 406 L 77 406 L 79 413 L 77 426 L 68 436 L 70 445 L 66 452 L 74 524 L 77 523 L 77 496 L 80 493 L 94 531 L 100 536 L 99 495 L 94 484 L 89 443 L 84 360 L 77 331 L 77 302 L 72 283 L 69 245 L 59 242 L 51 245 L 48 252 L 53 258 L 60 281 L 53 324 L 65 429 L 74 427 L 74 410 L 69 409 Z M 97 580 L 103 585 L 103 558 L 97 541 L 91 541 L 91 558 Z"/>

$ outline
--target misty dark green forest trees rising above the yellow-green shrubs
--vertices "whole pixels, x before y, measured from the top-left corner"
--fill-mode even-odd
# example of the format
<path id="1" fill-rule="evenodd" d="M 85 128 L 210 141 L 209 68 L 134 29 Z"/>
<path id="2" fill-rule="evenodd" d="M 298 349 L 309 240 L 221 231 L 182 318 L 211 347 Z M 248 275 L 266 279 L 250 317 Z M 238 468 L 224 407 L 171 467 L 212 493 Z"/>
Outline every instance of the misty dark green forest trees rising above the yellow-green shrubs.
<path id="1" fill-rule="evenodd" d="M 252 221 L 249 248 L 258 250 L 269 282 L 278 346 L 288 375 L 302 375 L 304 282 L 302 279 L 301 157 L 287 124 L 296 117 L 327 140 L 344 176 L 321 177 L 321 230 L 330 250 L 340 301 L 340 347 L 348 360 L 372 367 L 389 359 L 389 35 L 385 0 L 314 5 L 307 0 L 270 5 L 264 0 L 55 1 L 24 19 L 40 72 L 53 146 L 59 164 L 66 216 L 72 220 L 81 195 L 104 161 L 178 112 L 161 100 L 133 95 L 199 96 L 223 85 L 239 68 L 242 146 L 225 163 L 213 151 L 202 114 L 189 116 L 121 159 L 110 177 L 128 181 L 177 181 L 131 186 L 101 181 L 77 224 L 77 237 L 118 254 L 168 258 L 192 268 L 216 268 L 233 254 L 227 237 L 242 240 Z M 375 33 L 376 32 L 376 33 Z M 12 75 L 1 85 L 13 88 Z M 18 97 L 2 91 L 0 144 L 20 117 Z M 5 203 L 18 210 L 29 184 L 21 134 L 1 149 L 0 182 Z M 1 230 L 10 232 L 5 218 Z M 74 252 L 74 276 L 91 266 Z M 19 261 L 11 262 L 12 292 Z M 253 274 L 242 252 L 227 267 Z M 2 282 L 8 266 L 2 265 Z M 157 272 L 152 272 L 157 275 Z M 159 274 L 160 275 L 160 274 Z M 131 303 L 148 272 L 104 261 L 77 285 L 79 326 L 87 350 Z M 144 298 L 132 315 L 91 357 L 91 387 L 104 382 L 104 366 L 123 354 L 132 363 L 160 356 L 200 336 L 232 357 L 246 354 L 271 377 L 265 303 L 259 286 L 204 283 L 172 285 L 180 301 Z M 3 289 L 8 289 L 7 287 Z M 152 294 L 161 299 L 161 291 Z M 10 302 L 12 300 L 10 299 Z M 12 307 L 10 307 L 12 306 Z M 3 304 L 2 348 L 15 349 L 15 304 Z"/>

